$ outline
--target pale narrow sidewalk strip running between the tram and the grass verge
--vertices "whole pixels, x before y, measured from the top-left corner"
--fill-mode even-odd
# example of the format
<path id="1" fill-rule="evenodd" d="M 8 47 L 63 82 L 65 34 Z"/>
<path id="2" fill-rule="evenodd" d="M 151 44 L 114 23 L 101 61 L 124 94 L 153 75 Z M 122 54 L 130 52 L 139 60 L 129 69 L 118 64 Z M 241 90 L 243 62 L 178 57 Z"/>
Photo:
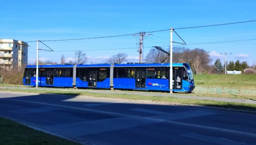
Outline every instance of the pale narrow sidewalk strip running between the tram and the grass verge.
<path id="1" fill-rule="evenodd" d="M 73 88 L 35 88 L 35 87 L 0 87 L 0 89 L 27 89 L 27 90 L 58 90 L 58 91 L 86 91 L 101 94 L 127 94 L 127 95 L 141 95 L 141 96 L 160 96 L 160 97 L 175 97 L 184 99 L 201 99 L 201 100 L 214 100 L 224 102 L 239 102 L 256 104 L 256 100 L 250 99 L 233 99 L 233 98 L 216 98 L 216 97 L 201 97 L 201 96 L 188 96 L 188 95 L 175 95 L 168 92 L 148 92 L 148 91 L 124 91 L 124 90 L 92 90 L 92 89 L 73 89 Z"/>

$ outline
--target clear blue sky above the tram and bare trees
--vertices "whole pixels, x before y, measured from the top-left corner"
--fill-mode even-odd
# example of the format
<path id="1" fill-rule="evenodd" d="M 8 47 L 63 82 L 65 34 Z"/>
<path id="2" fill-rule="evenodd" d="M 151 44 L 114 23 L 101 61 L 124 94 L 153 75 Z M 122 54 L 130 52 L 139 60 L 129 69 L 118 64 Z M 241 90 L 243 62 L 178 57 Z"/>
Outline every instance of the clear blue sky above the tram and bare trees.
<path id="1" fill-rule="evenodd" d="M 0 38 L 54 40 L 90 38 L 138 32 L 150 32 L 190 26 L 213 25 L 256 20 L 256 1 L 189 0 L 189 1 L 4 1 L 0 5 Z M 176 32 L 187 44 L 256 39 L 256 22 L 194 29 Z M 144 56 L 152 46 L 168 48 L 170 32 L 151 33 L 144 39 Z M 180 42 L 174 36 L 175 42 Z M 60 62 L 74 58 L 75 50 L 88 56 L 88 64 L 105 63 L 117 53 L 126 53 L 129 61 L 138 61 L 137 36 L 44 42 L 54 52 L 40 51 L 41 60 Z M 224 62 L 219 53 L 232 53 L 227 61 L 256 63 L 256 40 L 187 45 L 202 48 L 216 60 Z M 36 43 L 29 43 L 29 63 L 35 61 Z M 46 49 L 40 44 L 41 49 Z M 121 49 L 117 49 L 121 48 Z M 101 50 L 97 50 L 101 49 Z M 102 50 L 106 49 L 106 50 Z M 112 50 L 107 50 L 112 49 Z M 213 62 L 214 63 L 214 62 Z"/>

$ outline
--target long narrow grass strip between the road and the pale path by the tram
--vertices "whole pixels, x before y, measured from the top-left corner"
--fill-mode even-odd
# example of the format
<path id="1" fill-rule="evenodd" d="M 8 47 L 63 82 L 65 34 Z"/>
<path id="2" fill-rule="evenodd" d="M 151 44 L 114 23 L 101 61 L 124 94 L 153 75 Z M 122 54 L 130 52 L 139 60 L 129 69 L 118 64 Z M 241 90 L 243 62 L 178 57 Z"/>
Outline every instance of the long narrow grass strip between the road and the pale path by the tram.
<path id="1" fill-rule="evenodd" d="M 236 103 L 236 102 L 222 102 L 213 100 L 203 100 L 203 99 L 184 99 L 175 97 L 160 97 L 157 96 L 143 96 L 143 95 L 128 95 L 128 94 L 102 94 L 97 92 L 88 91 L 60 91 L 60 90 L 26 90 L 26 89 L 1 89 L 6 91 L 17 91 L 17 92 L 35 92 L 41 94 L 60 94 L 60 95 L 71 95 L 71 96 L 93 96 L 93 97 L 105 97 L 105 98 L 122 98 L 122 99 L 132 99 L 132 100 L 150 100 L 159 101 L 167 103 L 177 103 L 184 105 L 203 105 L 211 107 L 223 107 L 232 109 L 242 109 L 242 110 L 256 110 L 256 104 L 246 104 L 246 103 Z M 175 94 L 176 95 L 176 94 Z M 191 94 L 182 94 L 191 95 Z"/>

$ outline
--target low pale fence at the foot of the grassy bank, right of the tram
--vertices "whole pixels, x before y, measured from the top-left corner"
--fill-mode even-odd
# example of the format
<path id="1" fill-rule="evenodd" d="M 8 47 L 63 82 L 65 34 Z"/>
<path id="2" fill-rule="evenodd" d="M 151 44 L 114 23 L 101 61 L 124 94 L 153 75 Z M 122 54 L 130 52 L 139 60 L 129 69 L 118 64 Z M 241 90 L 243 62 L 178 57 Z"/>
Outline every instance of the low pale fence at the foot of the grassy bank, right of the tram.
<path id="1" fill-rule="evenodd" d="M 256 95 L 255 89 L 239 89 L 239 88 L 225 88 L 225 87 L 198 87 L 196 86 L 193 92 L 206 94 L 233 94 L 233 95 Z"/>

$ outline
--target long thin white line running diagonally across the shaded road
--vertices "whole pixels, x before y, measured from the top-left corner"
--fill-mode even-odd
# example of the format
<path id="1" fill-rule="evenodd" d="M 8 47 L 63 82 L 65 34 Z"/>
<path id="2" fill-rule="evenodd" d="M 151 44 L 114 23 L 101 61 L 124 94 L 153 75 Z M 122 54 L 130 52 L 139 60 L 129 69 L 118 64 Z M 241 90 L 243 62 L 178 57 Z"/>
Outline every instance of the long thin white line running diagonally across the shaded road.
<path id="1" fill-rule="evenodd" d="M 110 111 L 101 111 L 101 110 L 94 110 L 94 109 L 87 109 L 87 108 L 71 107 L 71 106 L 64 106 L 64 105 L 45 103 L 45 102 L 37 102 L 37 101 L 25 101 L 25 100 L 17 100 L 17 99 L 3 99 L 3 100 L 29 102 L 29 103 L 37 103 L 37 104 L 41 104 L 41 105 L 49 105 L 49 106 L 63 107 L 63 108 L 69 108 L 69 109 L 78 109 L 78 110 L 98 112 L 98 113 L 107 113 L 107 114 L 110 114 L 110 115 L 117 115 L 117 116 L 123 116 L 123 117 L 134 117 L 134 118 L 147 119 L 147 120 L 153 120 L 153 121 L 158 121 L 158 122 L 168 122 L 168 123 L 172 123 L 172 124 L 175 124 L 175 125 L 190 126 L 190 127 L 217 130 L 217 131 L 223 131 L 223 132 L 229 132 L 229 133 L 244 134 L 244 135 L 247 135 L 247 136 L 256 137 L 256 134 L 249 133 L 249 132 L 229 130 L 229 129 L 223 129 L 223 128 L 215 128 L 215 127 L 208 127 L 208 126 L 201 126 L 201 125 L 194 125 L 194 124 L 191 124 L 191 123 L 183 123 L 183 122 L 170 121 L 170 120 L 165 120 L 165 119 L 157 119 L 157 118 L 150 118 L 150 117 L 127 115 L 127 114 L 124 114 L 124 113 L 116 113 L 116 112 L 110 112 Z"/>

